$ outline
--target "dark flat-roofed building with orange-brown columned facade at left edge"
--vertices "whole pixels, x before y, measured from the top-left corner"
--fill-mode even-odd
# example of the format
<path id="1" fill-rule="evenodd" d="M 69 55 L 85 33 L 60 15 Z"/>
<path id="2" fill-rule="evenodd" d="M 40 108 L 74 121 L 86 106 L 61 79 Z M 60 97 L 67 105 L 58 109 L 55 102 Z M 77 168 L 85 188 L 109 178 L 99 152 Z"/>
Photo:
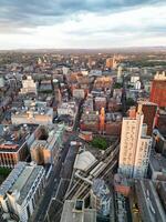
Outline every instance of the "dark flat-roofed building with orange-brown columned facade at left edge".
<path id="1" fill-rule="evenodd" d="M 25 161 L 37 125 L 0 125 L 0 167 L 13 168 Z"/>

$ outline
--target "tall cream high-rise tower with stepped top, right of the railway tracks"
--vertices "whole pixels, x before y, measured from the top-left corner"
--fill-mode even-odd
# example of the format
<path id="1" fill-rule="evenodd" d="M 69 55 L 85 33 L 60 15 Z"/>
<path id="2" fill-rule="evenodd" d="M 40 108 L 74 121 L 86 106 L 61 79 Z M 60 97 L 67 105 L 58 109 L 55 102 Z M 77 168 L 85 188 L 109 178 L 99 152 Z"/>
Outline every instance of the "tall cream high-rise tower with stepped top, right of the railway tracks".
<path id="1" fill-rule="evenodd" d="M 142 111 L 123 119 L 118 171 L 128 178 L 144 178 L 147 173 L 152 138 Z"/>

